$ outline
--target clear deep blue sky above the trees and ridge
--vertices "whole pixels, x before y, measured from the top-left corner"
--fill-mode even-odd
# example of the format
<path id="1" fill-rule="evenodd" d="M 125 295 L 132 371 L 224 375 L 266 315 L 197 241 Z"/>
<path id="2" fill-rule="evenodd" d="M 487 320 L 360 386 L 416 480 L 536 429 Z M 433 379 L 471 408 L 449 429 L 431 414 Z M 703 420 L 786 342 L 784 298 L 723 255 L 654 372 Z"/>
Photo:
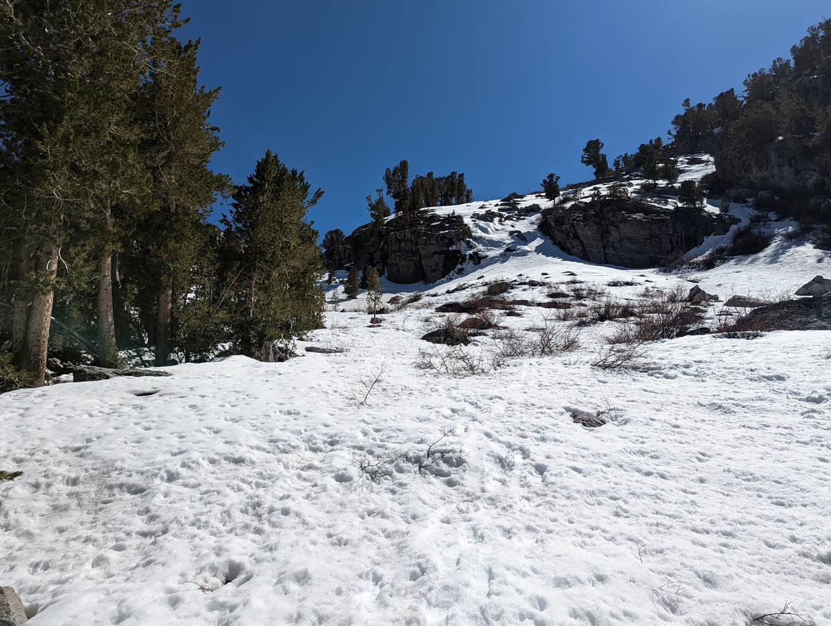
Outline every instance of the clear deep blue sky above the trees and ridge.
<path id="1" fill-rule="evenodd" d="M 831 17 L 819 0 L 181 1 L 200 81 L 222 86 L 214 169 L 242 183 L 273 150 L 326 192 L 321 234 L 365 223 L 401 159 L 465 172 L 476 200 L 588 180 L 587 140 L 611 162 L 666 138 L 684 98 L 740 92 Z"/>

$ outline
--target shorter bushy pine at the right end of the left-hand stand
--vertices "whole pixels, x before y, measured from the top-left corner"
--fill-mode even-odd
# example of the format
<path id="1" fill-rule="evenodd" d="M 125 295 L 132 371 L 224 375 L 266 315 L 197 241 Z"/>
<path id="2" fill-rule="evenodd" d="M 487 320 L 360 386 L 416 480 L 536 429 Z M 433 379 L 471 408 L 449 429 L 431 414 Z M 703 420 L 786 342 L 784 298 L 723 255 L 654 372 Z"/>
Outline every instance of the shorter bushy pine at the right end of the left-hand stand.
<path id="1" fill-rule="evenodd" d="M 307 211 L 323 195 L 309 197 L 303 172 L 289 170 L 268 150 L 248 184 L 234 194 L 222 223 L 233 248 L 236 297 L 231 326 L 239 352 L 259 354 L 265 344 L 319 328 L 325 300 L 317 231 Z"/>

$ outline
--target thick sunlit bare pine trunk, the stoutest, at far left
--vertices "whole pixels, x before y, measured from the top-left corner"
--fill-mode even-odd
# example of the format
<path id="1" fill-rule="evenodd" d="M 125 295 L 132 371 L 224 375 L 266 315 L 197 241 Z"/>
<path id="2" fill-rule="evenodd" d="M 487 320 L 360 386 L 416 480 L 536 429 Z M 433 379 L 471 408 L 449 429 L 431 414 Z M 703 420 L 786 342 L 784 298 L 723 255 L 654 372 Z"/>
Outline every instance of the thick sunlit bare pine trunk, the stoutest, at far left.
<path id="1" fill-rule="evenodd" d="M 42 287 L 32 297 L 26 324 L 26 339 L 17 363 L 27 372 L 37 375 L 43 384 L 47 371 L 47 350 L 49 349 L 49 328 L 52 324 L 52 301 L 55 297 L 57 277 L 57 245 L 48 244 L 38 259 L 36 270 L 44 278 Z"/>

